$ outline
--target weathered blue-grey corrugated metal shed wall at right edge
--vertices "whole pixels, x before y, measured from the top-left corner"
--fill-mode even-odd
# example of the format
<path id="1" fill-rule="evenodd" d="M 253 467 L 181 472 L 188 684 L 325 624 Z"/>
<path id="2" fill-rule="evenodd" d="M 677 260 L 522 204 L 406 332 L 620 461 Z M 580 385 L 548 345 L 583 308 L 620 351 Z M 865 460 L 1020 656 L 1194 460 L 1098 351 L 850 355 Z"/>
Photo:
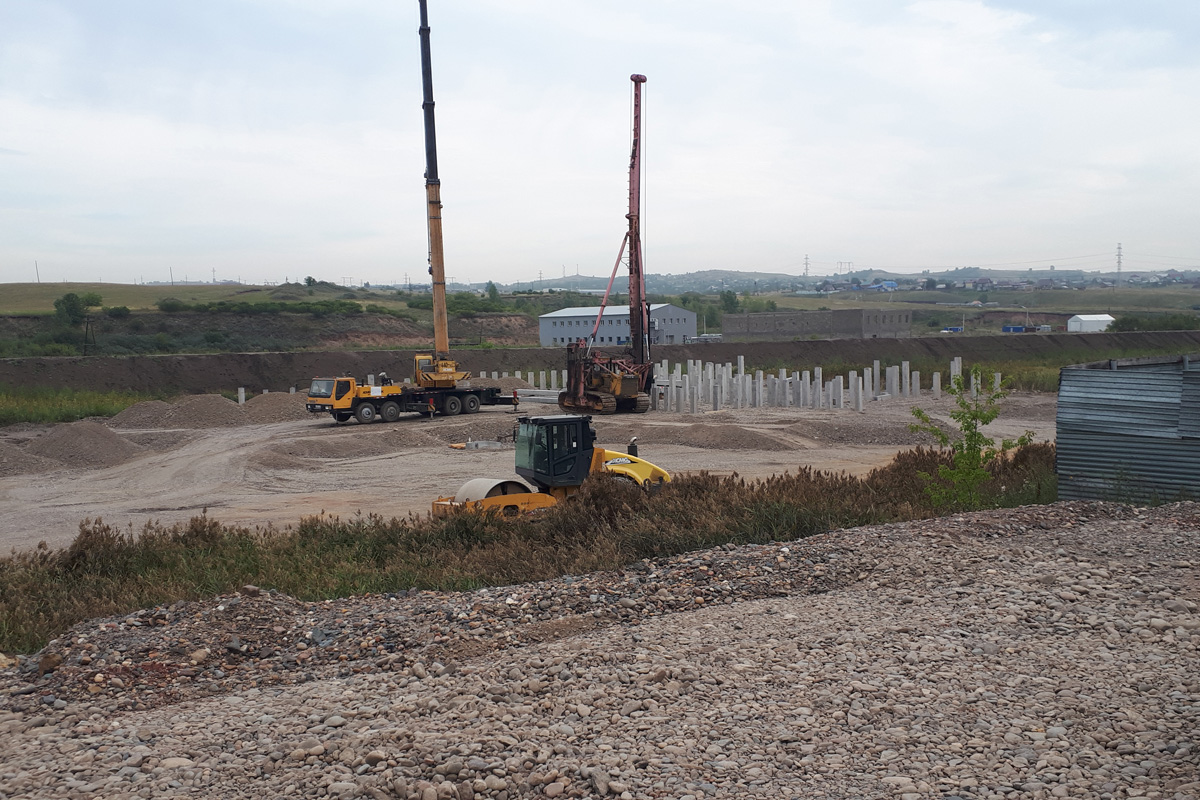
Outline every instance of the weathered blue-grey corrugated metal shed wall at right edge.
<path id="1" fill-rule="evenodd" d="M 1200 371 L 1187 361 L 1060 373 L 1058 497 L 1200 497 Z"/>

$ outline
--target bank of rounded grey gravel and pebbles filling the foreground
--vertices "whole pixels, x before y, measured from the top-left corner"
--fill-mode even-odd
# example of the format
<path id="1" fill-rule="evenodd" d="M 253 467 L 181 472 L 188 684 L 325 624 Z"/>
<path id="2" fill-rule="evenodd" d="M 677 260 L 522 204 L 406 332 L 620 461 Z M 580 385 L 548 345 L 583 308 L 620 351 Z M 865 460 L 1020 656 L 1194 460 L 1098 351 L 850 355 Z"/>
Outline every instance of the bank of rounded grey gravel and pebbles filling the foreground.
<path id="1" fill-rule="evenodd" d="M 0 672 L 0 798 L 1196 798 L 1200 505 L 468 594 L 236 596 Z"/>

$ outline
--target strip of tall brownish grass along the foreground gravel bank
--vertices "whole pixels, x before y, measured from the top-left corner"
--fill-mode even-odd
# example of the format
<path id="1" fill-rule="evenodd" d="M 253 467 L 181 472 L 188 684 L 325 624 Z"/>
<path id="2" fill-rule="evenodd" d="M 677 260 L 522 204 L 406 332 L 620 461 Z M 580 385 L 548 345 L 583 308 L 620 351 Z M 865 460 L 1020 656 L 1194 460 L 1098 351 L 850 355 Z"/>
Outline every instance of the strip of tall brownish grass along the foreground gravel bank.
<path id="1" fill-rule="evenodd" d="M 246 583 L 302 600 L 409 588 L 472 589 L 614 570 L 727 542 L 802 539 L 824 530 L 936 515 L 918 471 L 949 458 L 919 449 L 863 477 L 802 468 L 785 476 L 683 477 L 647 494 L 595 479 L 570 501 L 504 518 L 310 517 L 295 528 L 186 524 L 120 530 L 84 521 L 70 547 L 0 559 L 0 650 L 34 651 L 71 625 Z M 997 459 L 985 503 L 1056 498 L 1054 445 Z"/>

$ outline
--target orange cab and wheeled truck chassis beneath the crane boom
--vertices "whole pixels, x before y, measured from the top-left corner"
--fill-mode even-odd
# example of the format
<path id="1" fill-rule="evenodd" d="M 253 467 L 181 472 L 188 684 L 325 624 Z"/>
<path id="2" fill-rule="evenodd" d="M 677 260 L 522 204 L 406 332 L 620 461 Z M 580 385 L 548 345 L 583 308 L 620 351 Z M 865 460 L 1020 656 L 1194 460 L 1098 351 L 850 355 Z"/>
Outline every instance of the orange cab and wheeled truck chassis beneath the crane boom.
<path id="1" fill-rule="evenodd" d="M 336 422 L 352 417 L 359 422 L 395 422 L 401 414 L 474 414 L 484 405 L 517 405 L 517 393 L 505 395 L 494 387 L 472 389 L 467 381 L 449 389 L 427 389 L 414 384 L 360 384 L 354 378 L 314 378 L 305 408 L 311 414 L 329 414 Z"/>

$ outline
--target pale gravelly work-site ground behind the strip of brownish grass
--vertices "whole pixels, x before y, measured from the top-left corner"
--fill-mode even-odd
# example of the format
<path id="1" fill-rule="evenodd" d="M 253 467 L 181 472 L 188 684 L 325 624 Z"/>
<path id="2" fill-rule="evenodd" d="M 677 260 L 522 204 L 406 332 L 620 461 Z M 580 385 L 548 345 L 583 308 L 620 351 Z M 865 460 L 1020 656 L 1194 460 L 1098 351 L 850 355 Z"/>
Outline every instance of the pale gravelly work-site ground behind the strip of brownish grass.
<path id="1" fill-rule="evenodd" d="M 1055 397 L 1014 395 L 988 432 L 1054 440 Z M 217 396 L 143 403 L 109 420 L 0 431 L 0 552 L 61 547 L 83 519 L 140 529 L 208 510 L 226 523 L 284 527 L 310 515 L 424 513 L 472 477 L 512 477 L 512 450 L 451 443 L 510 435 L 510 409 L 392 425 L 334 425 L 306 415 L 302 396 Z M 948 423 L 949 401 L 918 403 Z M 599 444 L 640 453 L 673 475 L 708 470 L 764 477 L 808 465 L 864 474 L 900 450 L 931 444 L 907 429 L 911 403 L 850 410 L 755 409 L 595 420 Z M 526 404 L 521 414 L 556 413 Z M 283 420 L 270 422 L 266 420 Z"/>

